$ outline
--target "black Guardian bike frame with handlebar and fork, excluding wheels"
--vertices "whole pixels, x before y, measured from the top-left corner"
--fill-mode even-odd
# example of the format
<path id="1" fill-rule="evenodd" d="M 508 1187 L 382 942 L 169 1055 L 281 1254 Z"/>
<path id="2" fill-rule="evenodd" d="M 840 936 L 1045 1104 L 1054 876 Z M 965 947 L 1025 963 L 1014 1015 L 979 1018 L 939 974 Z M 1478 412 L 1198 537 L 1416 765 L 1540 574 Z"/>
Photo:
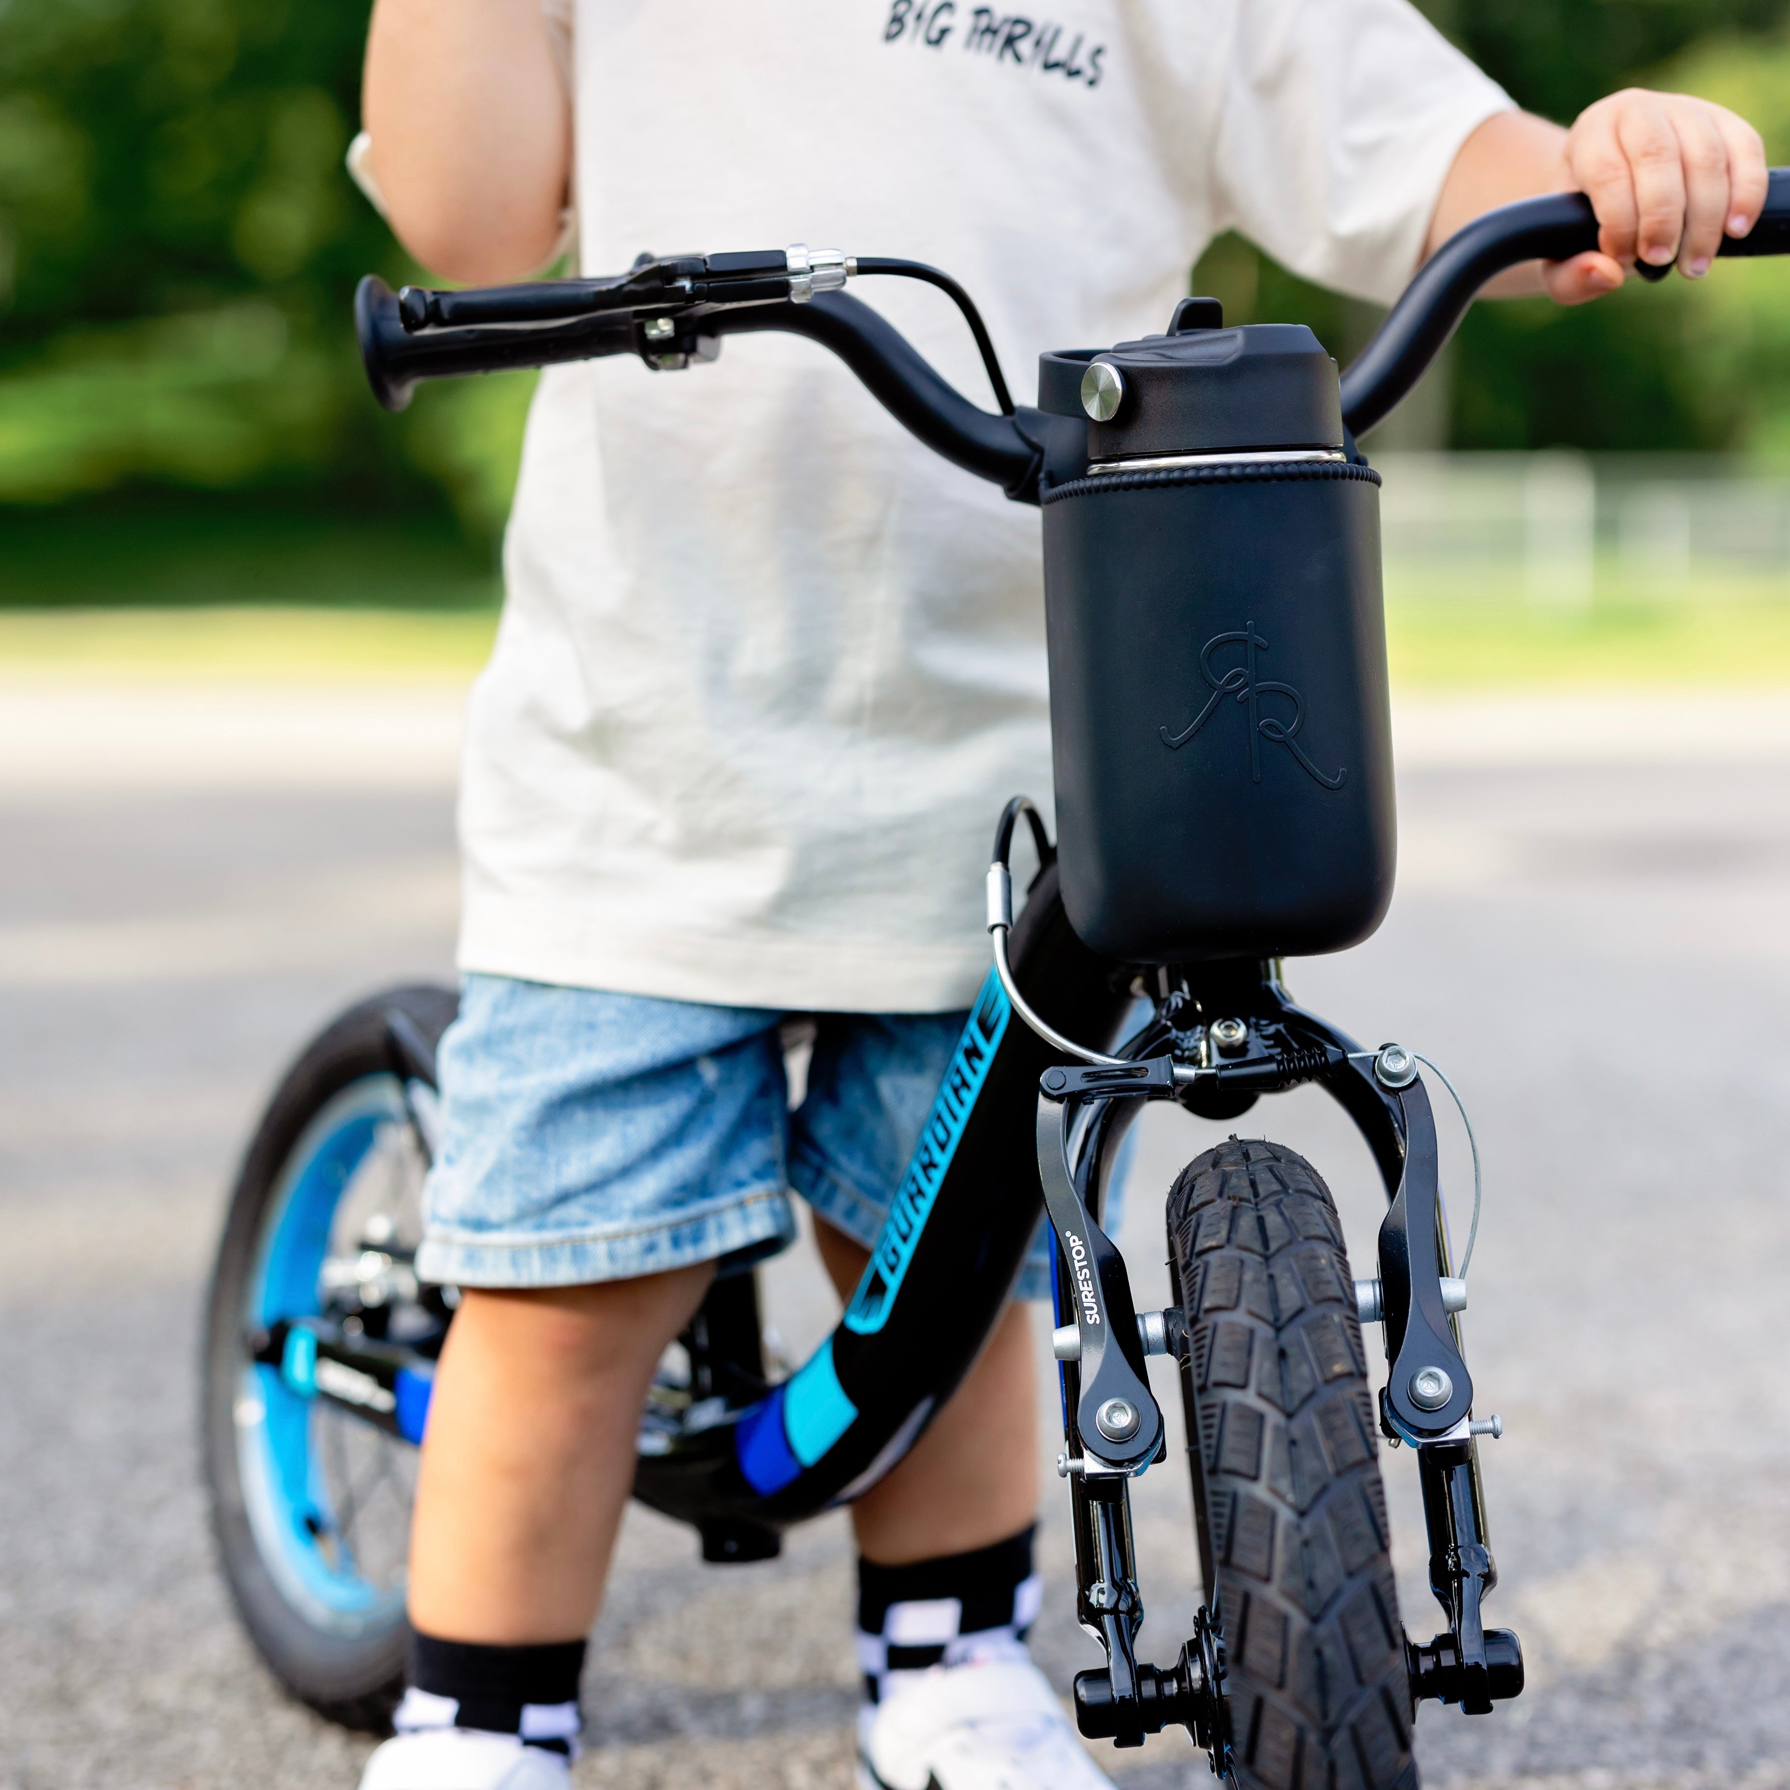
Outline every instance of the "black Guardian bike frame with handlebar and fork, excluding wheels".
<path id="1" fill-rule="evenodd" d="M 1350 430 L 1378 422 L 1421 376 L 1479 288 L 1504 267 L 1591 249 L 1597 222 L 1581 195 L 1507 206 L 1468 226 L 1419 272 L 1380 333 L 1342 376 Z M 1790 252 L 1790 170 L 1772 170 L 1765 213 L 1722 254 Z M 866 263 L 893 272 L 911 263 Z M 956 465 L 1038 503 L 1087 467 L 1087 431 L 1072 417 L 1020 406 L 992 415 L 952 390 L 875 311 L 836 288 L 856 263 L 788 254 L 643 260 L 612 281 L 562 281 L 485 294 L 390 294 L 363 281 L 356 322 L 381 403 L 403 408 L 419 378 L 635 353 L 657 369 L 707 358 L 723 335 L 780 329 L 840 354 L 920 440 Z M 934 283 L 934 270 L 924 270 Z M 836 276 L 836 277 L 834 277 Z M 949 281 L 943 281 L 950 286 Z M 979 319 L 958 294 L 984 344 Z M 990 365 L 997 392 L 999 371 Z M 1351 446 L 1353 456 L 1353 446 Z M 1019 807 L 1002 816 L 1004 870 Z M 764 1378 L 759 1314 L 748 1273 L 718 1278 L 684 1335 L 689 1385 L 648 1407 L 635 1495 L 702 1534 L 714 1561 L 761 1559 L 779 1534 L 874 1486 L 949 1400 L 993 1328 L 1040 1208 L 1058 1240 L 1056 1351 L 1063 1393 L 1063 1477 L 1070 1484 L 1078 1616 L 1108 1665 L 1076 1681 L 1081 1729 L 1121 1745 L 1185 1724 L 1228 1761 L 1223 1638 L 1201 1613 L 1167 1668 L 1135 1656 L 1142 1602 L 1131 1548 L 1129 1480 L 1164 1457 L 1162 1412 L 1147 1355 L 1178 1359 L 1194 1402 L 1192 1364 L 1176 1307 L 1138 1317 L 1124 1258 L 1101 1230 L 1119 1140 L 1142 1101 L 1174 1099 L 1205 1117 L 1230 1117 L 1258 1095 L 1316 1083 L 1355 1122 L 1385 1183 L 1380 1278 L 1357 1283 L 1364 1319 L 1382 1316 L 1389 1380 L 1380 1428 L 1418 1453 L 1430 1541 L 1430 1586 L 1448 1627 L 1407 1641 L 1416 1699 L 1441 1697 L 1489 1711 L 1522 1690 L 1516 1636 L 1486 1629 L 1496 1584 L 1484 1518 L 1473 1382 L 1445 1280 L 1446 1223 L 1437 1187 L 1436 1126 L 1409 1053 L 1362 1051 L 1296 1006 L 1276 963 L 1223 961 L 1151 968 L 1101 959 L 1074 934 L 1058 895 L 1042 825 L 1044 870 L 972 1008 L 870 1266 L 838 1326 L 795 1375 Z M 990 929 L 1004 922 L 992 915 Z M 1115 1056 L 1140 997 L 1151 1019 Z M 413 1027 L 412 1027 L 413 1031 Z M 394 1069 L 406 1087 L 431 1087 L 421 1040 L 392 1022 Z M 415 1108 L 428 1142 L 426 1101 Z M 1029 1137 L 1033 1155 L 1020 1147 Z M 1373 1307 L 1369 1310 L 1369 1307 Z M 390 1344 L 354 1344 L 310 1325 L 313 1360 L 342 1373 L 317 1378 L 331 1396 L 396 1434 L 421 1437 L 431 1362 Z M 292 1335 L 267 1339 L 279 1362 Z M 328 1380 L 328 1384 L 326 1384 Z M 422 1393 L 419 1393 L 419 1385 Z M 1484 1428 L 1489 1428 L 1486 1425 Z M 1190 1450 L 1194 1473 L 1199 1448 Z M 1205 1541 L 1201 1543 L 1205 1548 Z M 1214 1561 L 1201 1568 L 1210 1588 Z"/>

